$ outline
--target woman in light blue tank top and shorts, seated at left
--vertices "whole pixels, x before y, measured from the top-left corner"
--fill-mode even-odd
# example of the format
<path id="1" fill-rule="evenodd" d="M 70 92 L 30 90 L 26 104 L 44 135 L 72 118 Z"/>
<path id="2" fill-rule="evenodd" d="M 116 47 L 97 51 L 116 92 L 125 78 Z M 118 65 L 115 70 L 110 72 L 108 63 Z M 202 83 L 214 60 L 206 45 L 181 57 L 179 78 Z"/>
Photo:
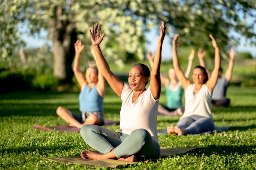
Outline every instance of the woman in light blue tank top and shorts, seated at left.
<path id="1" fill-rule="evenodd" d="M 92 47 L 90 48 L 90 51 L 97 66 L 89 65 L 84 77 L 83 73 L 79 69 L 79 59 L 83 49 L 84 45 L 81 44 L 80 40 L 77 40 L 75 43 L 76 56 L 73 71 L 79 85 L 81 86 L 81 92 L 79 94 L 79 109 L 81 114 L 79 116 L 61 106 L 58 107 L 56 111 L 61 119 L 70 123 L 70 126 L 78 128 L 81 128 L 85 124 L 104 124 L 104 112 L 102 105 L 103 98 L 105 96 L 105 78 L 99 70 L 99 65 Z"/>

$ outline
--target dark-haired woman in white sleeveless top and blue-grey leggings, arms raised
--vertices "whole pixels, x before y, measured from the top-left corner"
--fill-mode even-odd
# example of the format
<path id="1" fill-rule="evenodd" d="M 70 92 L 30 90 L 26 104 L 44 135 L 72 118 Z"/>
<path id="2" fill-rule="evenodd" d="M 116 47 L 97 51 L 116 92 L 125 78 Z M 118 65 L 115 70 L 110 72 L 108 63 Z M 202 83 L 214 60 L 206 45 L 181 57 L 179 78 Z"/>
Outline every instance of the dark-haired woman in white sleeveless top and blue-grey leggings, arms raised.
<path id="1" fill-rule="evenodd" d="M 214 130 L 212 118 L 212 90 L 218 80 L 218 71 L 221 65 L 219 48 L 212 37 L 212 46 L 215 48 L 215 66 L 211 77 L 208 79 L 206 69 L 201 66 L 194 68 L 192 78 L 194 83 L 190 82 L 180 69 L 179 59 L 176 48 L 179 45 L 176 35 L 172 42 L 173 66 L 177 77 L 185 91 L 185 112 L 180 118 L 176 127 L 167 128 L 168 133 L 174 135 L 197 134 Z"/>

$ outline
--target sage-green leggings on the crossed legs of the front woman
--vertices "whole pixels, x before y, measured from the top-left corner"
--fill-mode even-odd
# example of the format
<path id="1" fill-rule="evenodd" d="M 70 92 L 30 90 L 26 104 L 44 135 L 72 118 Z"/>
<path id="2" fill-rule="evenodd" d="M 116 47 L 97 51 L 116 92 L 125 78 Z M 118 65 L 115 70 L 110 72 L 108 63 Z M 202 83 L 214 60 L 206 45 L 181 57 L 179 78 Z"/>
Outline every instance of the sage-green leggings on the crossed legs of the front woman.
<path id="1" fill-rule="evenodd" d="M 157 159 L 160 156 L 160 146 L 145 129 L 127 135 L 97 125 L 84 125 L 80 133 L 84 141 L 100 153 L 109 153 L 114 148 L 116 158 L 135 155 Z"/>

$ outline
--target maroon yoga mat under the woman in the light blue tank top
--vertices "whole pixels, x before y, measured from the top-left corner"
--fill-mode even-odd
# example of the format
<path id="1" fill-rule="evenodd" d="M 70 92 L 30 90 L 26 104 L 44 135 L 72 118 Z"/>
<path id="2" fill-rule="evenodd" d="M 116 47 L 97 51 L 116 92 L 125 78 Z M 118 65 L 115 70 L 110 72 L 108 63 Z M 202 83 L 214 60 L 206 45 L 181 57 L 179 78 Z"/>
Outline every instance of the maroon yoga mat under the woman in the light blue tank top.
<path id="1" fill-rule="evenodd" d="M 120 121 L 111 121 L 111 120 L 104 120 L 104 125 L 119 125 Z M 41 130 L 58 130 L 63 132 L 80 132 L 80 129 L 77 127 L 72 127 L 69 125 L 58 125 L 54 127 L 44 127 L 39 125 L 33 125 L 35 129 L 41 129 Z"/>

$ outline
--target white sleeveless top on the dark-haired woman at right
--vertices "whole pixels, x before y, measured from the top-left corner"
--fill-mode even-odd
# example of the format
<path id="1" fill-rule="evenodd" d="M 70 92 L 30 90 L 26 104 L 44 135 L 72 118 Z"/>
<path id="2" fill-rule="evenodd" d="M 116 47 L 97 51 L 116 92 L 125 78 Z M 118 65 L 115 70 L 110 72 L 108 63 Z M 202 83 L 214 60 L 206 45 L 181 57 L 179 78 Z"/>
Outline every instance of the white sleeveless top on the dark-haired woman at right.
<path id="1" fill-rule="evenodd" d="M 191 84 L 185 91 L 185 111 L 184 117 L 198 115 L 207 117 L 213 120 L 212 117 L 212 93 L 209 91 L 207 85 L 202 85 L 198 94 L 194 93 L 195 84 Z"/>

